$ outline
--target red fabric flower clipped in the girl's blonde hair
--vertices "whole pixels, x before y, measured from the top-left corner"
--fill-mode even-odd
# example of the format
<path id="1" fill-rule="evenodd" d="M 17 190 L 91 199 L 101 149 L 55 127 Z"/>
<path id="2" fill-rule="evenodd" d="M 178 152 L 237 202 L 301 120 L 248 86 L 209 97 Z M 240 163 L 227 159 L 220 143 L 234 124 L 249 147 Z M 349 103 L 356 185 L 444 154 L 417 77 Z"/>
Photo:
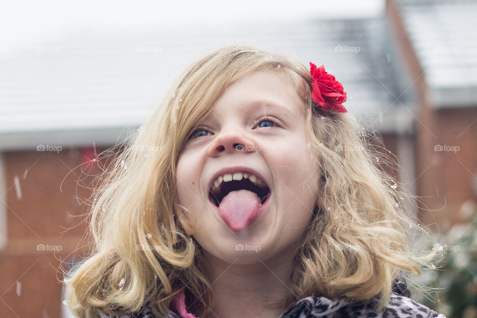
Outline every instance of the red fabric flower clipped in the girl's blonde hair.
<path id="1" fill-rule="evenodd" d="M 312 74 L 312 98 L 321 106 L 323 110 L 331 110 L 338 113 L 346 113 L 342 103 L 346 101 L 346 92 L 343 85 L 331 74 L 326 73 L 324 66 L 319 68 L 310 62 L 310 73 Z"/>

